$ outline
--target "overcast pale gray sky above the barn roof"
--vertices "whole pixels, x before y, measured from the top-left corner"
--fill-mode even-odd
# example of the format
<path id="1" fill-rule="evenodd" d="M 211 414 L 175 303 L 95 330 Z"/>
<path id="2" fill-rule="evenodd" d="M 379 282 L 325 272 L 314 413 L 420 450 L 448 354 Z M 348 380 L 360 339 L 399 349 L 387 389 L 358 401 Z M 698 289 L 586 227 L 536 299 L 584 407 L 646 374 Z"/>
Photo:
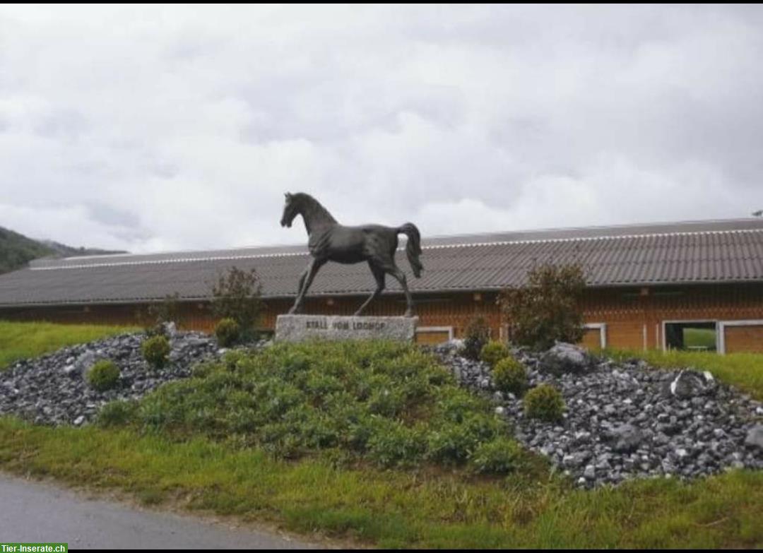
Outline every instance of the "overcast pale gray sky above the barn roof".
<path id="1" fill-rule="evenodd" d="M 0 226 L 301 243 L 763 208 L 760 7 L 0 8 Z"/>

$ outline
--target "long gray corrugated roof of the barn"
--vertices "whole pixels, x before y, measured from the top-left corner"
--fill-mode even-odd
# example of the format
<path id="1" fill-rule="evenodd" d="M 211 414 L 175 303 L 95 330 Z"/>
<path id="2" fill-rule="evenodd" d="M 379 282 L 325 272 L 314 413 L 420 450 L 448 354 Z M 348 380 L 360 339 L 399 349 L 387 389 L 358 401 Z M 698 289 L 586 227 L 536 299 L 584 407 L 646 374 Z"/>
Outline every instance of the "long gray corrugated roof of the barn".
<path id="1" fill-rule="evenodd" d="M 266 297 L 291 296 L 308 259 L 304 246 L 43 259 L 0 275 L 0 306 L 146 301 L 175 292 L 203 298 L 233 265 L 256 268 Z M 542 262 L 581 262 L 591 286 L 763 281 L 763 220 L 440 236 L 423 241 L 421 260 L 416 279 L 398 252 L 414 292 L 518 285 Z M 394 279 L 387 284 L 399 291 Z M 373 287 L 365 263 L 329 263 L 311 295 L 366 294 Z"/>

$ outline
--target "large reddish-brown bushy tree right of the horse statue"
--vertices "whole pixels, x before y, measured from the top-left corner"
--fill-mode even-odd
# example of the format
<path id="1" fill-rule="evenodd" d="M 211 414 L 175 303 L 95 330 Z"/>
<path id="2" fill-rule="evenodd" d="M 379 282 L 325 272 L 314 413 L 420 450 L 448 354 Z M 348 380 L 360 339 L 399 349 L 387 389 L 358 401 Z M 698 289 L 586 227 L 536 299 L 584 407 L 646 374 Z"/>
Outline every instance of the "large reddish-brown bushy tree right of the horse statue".
<path id="1" fill-rule="evenodd" d="M 513 342 L 549 349 L 556 340 L 580 342 L 585 288 L 581 265 L 539 265 L 527 274 L 526 285 L 509 288 L 498 302 L 509 323 Z"/>

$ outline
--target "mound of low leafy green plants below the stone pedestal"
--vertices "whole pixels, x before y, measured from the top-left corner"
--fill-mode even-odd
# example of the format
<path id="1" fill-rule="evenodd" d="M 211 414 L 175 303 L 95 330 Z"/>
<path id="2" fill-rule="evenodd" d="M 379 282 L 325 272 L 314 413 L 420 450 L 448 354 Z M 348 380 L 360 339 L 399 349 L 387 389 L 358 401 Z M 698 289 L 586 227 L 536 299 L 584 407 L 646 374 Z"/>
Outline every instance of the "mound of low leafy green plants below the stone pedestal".
<path id="1" fill-rule="evenodd" d="M 145 397 L 131 422 L 179 438 L 257 446 L 280 458 L 330 450 L 385 467 L 469 463 L 488 472 L 510 471 L 520 460 L 488 401 L 458 387 L 432 356 L 388 342 L 229 352 Z M 471 462 L 475 454 L 478 463 Z"/>

